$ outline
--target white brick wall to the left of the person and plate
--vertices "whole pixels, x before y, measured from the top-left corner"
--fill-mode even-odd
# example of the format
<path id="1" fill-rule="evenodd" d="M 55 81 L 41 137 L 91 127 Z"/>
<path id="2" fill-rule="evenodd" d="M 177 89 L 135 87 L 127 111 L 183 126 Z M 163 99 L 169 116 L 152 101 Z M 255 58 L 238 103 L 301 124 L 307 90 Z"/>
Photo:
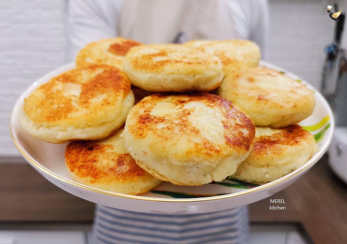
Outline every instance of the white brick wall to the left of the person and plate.
<path id="1" fill-rule="evenodd" d="M 0 162 L 19 156 L 9 116 L 19 94 L 67 62 L 66 0 L 0 1 Z"/>

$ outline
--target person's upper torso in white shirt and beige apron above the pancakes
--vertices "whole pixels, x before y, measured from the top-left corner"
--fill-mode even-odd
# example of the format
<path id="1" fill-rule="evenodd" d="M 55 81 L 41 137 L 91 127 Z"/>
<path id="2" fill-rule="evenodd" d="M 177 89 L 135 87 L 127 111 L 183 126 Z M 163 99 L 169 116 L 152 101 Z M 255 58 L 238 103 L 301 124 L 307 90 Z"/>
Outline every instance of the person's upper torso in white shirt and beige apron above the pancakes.
<path id="1" fill-rule="evenodd" d="M 90 42 L 116 36 L 146 44 L 250 39 L 263 51 L 266 26 L 266 0 L 69 1 L 72 57 Z"/>

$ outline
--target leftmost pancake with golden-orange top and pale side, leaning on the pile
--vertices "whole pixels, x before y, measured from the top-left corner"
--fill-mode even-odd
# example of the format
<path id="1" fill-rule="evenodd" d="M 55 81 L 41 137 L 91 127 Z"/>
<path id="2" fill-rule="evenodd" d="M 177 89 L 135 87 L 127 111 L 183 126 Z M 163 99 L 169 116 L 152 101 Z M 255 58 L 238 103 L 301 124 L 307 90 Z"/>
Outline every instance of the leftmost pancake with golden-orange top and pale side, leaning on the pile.
<path id="1" fill-rule="evenodd" d="M 67 71 L 36 88 L 21 112 L 21 123 L 46 142 L 99 140 L 118 130 L 134 105 L 127 76 L 109 65 Z"/>

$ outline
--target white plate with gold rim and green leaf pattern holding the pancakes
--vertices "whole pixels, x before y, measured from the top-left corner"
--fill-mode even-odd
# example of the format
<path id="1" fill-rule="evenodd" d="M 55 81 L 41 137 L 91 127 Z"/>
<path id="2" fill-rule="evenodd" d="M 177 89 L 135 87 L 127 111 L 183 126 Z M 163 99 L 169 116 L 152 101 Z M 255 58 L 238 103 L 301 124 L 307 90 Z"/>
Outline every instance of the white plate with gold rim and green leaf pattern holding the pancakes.
<path id="1" fill-rule="evenodd" d="M 269 63 L 261 61 L 260 66 L 283 71 L 298 82 L 303 82 L 297 76 Z M 66 144 L 52 144 L 33 138 L 22 128 L 18 119 L 24 98 L 37 85 L 73 68 L 74 64 L 68 64 L 45 75 L 20 96 L 11 115 L 11 135 L 19 152 L 46 179 L 71 194 L 105 206 L 143 213 L 197 214 L 250 204 L 269 197 L 296 181 L 321 158 L 332 139 L 334 121 L 328 103 L 320 92 L 303 82 L 314 92 L 316 106 L 313 114 L 299 124 L 315 135 L 318 150 L 307 163 L 278 180 L 261 186 L 228 179 L 221 183 L 210 183 L 199 187 L 176 186 L 164 182 L 140 196 L 85 186 L 73 181 L 70 177 L 64 158 Z"/>

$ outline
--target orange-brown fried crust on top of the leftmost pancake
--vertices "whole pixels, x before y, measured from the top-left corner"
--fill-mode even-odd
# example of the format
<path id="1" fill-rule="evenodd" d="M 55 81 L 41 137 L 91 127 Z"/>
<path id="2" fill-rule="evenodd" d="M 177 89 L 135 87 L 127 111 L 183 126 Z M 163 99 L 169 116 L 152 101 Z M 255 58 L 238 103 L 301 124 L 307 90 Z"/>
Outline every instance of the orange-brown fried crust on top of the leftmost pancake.
<path id="1" fill-rule="evenodd" d="M 85 83 L 80 81 L 79 76 L 82 72 L 92 72 L 100 68 L 103 69 L 102 73 L 91 76 Z M 73 104 L 74 96 L 66 97 L 63 95 L 64 90 L 54 89 L 57 83 L 81 85 L 81 93 L 75 100 L 77 107 Z M 24 99 L 24 111 L 36 123 L 64 120 L 69 117 L 71 112 L 76 112 L 81 108 L 88 111 L 84 115 L 85 117 L 93 117 L 93 114 L 103 107 L 111 107 L 117 96 L 121 95 L 124 98 L 130 92 L 130 86 L 127 76 L 116 67 L 92 65 L 77 68 L 58 75 L 37 88 Z M 44 94 L 44 97 L 41 94 Z M 101 94 L 107 94 L 107 96 L 97 107 L 92 106 L 90 101 Z"/>

